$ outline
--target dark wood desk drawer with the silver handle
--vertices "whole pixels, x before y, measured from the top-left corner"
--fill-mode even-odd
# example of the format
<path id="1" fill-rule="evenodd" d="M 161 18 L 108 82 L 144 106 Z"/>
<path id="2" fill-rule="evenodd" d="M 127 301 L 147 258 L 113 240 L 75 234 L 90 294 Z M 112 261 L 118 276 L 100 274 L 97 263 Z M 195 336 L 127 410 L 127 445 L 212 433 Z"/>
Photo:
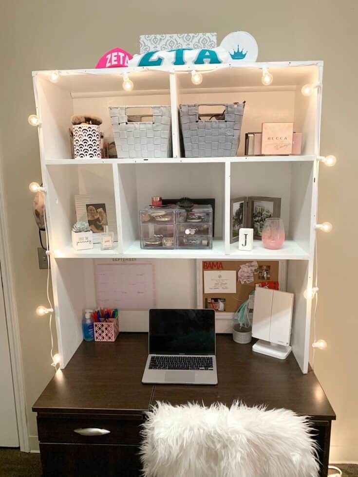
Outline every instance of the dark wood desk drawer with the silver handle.
<path id="1" fill-rule="evenodd" d="M 40 442 L 126 444 L 140 442 L 141 415 L 132 416 L 38 416 Z"/>

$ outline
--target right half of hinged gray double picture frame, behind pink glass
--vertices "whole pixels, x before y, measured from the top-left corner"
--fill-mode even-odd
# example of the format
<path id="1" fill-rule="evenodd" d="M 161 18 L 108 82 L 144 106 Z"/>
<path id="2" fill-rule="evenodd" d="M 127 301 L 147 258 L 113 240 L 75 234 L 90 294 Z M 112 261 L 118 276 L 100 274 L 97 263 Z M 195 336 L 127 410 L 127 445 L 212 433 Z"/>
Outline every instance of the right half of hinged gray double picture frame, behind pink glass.
<path id="1" fill-rule="evenodd" d="M 254 238 L 261 240 L 266 219 L 281 217 L 281 199 L 279 197 L 249 197 L 248 227 L 254 229 Z"/>

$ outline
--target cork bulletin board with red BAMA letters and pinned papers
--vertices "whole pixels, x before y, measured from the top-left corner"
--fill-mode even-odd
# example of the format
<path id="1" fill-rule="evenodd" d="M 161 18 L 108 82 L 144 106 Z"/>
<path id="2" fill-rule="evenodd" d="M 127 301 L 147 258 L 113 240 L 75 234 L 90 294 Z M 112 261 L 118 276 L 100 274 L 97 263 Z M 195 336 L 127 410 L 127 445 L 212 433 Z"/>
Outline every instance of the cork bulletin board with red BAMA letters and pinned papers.
<path id="1" fill-rule="evenodd" d="M 257 283 L 278 281 L 280 290 L 283 289 L 282 269 L 285 267 L 282 267 L 282 261 L 201 260 L 200 262 L 197 268 L 200 274 L 198 276 L 198 306 L 214 308 L 217 317 L 220 314 L 236 312 L 247 300 L 250 292 L 255 290 Z M 201 304 L 199 297 L 202 299 Z"/>

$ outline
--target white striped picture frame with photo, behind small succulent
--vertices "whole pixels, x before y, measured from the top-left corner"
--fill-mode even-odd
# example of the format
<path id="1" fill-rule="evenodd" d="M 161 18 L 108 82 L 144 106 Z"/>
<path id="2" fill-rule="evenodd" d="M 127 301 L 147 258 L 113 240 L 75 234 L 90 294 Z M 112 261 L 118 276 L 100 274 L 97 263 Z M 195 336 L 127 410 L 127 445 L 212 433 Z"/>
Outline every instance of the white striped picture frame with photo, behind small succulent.
<path id="1" fill-rule="evenodd" d="M 76 219 L 88 222 L 93 232 L 93 243 L 100 243 L 105 225 L 118 241 L 114 197 L 102 194 L 83 194 L 75 196 Z"/>

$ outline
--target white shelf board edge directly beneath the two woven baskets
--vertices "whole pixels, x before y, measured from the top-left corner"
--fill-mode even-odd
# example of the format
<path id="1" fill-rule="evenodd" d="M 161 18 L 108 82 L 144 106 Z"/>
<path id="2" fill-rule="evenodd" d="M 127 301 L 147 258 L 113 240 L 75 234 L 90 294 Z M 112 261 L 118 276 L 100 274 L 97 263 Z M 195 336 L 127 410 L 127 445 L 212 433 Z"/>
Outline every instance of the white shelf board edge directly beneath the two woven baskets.
<path id="1" fill-rule="evenodd" d="M 53 159 L 45 161 L 51 165 L 89 164 L 205 164 L 205 163 L 259 163 L 259 162 L 313 162 L 316 156 L 236 156 L 236 157 L 168 157 L 168 158 L 125 158 L 125 159 Z"/>

